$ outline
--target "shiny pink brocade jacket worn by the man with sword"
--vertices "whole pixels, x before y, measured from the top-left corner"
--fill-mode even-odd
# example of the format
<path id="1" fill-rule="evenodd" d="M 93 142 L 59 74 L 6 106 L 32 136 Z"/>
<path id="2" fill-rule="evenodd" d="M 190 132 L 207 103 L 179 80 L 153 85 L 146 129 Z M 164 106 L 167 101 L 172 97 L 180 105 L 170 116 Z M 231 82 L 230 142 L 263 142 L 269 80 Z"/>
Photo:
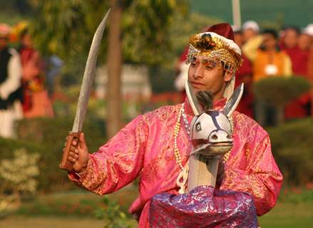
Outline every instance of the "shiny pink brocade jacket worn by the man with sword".
<path id="1" fill-rule="evenodd" d="M 218 100 L 214 108 L 220 110 L 225 102 L 226 99 Z M 85 172 L 79 177 L 71 172 L 70 180 L 104 195 L 119 190 L 139 176 L 139 196 L 129 211 L 139 220 L 139 227 L 148 227 L 150 198 L 160 192 L 178 194 L 176 178 L 180 170 L 175 161 L 173 142 L 181 105 L 163 106 L 139 115 L 106 145 L 89 155 Z M 185 113 L 190 123 L 193 112 L 187 100 Z M 250 192 L 260 216 L 276 204 L 282 174 L 274 161 L 265 130 L 241 113 L 233 113 L 232 118 L 234 145 L 225 163 L 220 190 Z M 185 165 L 192 146 L 183 120 L 178 149 Z"/>

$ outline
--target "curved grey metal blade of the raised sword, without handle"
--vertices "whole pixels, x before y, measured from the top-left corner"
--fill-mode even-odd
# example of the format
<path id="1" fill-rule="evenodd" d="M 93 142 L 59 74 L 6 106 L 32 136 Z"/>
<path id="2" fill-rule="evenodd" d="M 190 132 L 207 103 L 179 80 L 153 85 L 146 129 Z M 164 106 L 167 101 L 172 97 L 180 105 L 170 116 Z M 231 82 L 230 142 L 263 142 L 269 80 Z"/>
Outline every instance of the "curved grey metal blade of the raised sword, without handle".
<path id="1" fill-rule="evenodd" d="M 83 73 L 83 83 L 81 85 L 81 92 L 79 93 L 76 115 L 72 128 L 73 133 L 80 132 L 83 129 L 83 121 L 85 120 L 86 116 L 88 100 L 91 93 L 91 86 L 96 70 L 98 52 L 101 45 L 103 31 L 106 27 L 106 22 L 108 20 L 108 15 L 110 11 L 111 9 L 108 10 L 106 16 L 104 16 L 104 18 L 102 19 L 96 30 L 95 35 L 93 36 L 93 41 L 91 43 L 91 48 L 88 53 L 85 71 Z"/>

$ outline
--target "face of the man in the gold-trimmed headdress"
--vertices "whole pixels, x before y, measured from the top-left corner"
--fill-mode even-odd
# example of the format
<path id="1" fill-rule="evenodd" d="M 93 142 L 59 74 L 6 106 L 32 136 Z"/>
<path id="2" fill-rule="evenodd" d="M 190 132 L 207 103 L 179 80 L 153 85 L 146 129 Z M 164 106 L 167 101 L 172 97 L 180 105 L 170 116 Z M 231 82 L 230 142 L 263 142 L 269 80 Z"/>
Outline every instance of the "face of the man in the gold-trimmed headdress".
<path id="1" fill-rule="evenodd" d="M 188 81 L 197 91 L 210 91 L 213 100 L 222 98 L 226 83 L 232 79 L 232 74 L 224 71 L 220 61 L 206 56 L 195 56 L 188 70 Z"/>

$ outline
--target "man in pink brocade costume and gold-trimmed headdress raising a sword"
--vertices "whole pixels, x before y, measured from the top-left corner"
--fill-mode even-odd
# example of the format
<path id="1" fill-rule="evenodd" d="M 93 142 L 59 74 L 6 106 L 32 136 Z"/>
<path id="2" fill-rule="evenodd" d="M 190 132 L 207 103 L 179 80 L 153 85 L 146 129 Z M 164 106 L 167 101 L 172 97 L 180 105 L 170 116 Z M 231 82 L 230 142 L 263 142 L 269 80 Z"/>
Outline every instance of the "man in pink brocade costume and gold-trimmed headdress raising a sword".
<path id="1" fill-rule="evenodd" d="M 240 66 L 241 52 L 233 42 L 229 24 L 212 26 L 209 31 L 222 42 L 213 40 L 214 57 L 194 55 L 188 78 L 196 92 L 210 90 L 214 109 L 220 110 L 234 90 L 234 75 Z M 182 106 L 185 117 L 180 118 L 181 127 L 176 128 L 178 136 L 175 138 Z M 186 123 L 190 125 L 192 118 L 188 100 L 158 108 L 139 115 L 93 154 L 88 154 L 82 133 L 78 148 L 77 142 L 73 142 L 69 152 L 68 160 L 73 163 L 74 170 L 69 172 L 69 178 L 91 192 L 104 195 L 116 192 L 140 177 L 139 197 L 131 205 L 130 213 L 138 219 L 139 227 L 148 227 L 150 199 L 162 192 L 178 195 L 176 179 L 180 165 L 186 164 L 192 150 Z M 247 192 L 252 196 L 257 215 L 261 216 L 276 204 L 282 174 L 274 162 L 265 130 L 255 120 L 238 112 L 233 113 L 232 120 L 234 144 L 220 162 L 216 190 Z M 179 157 L 174 152 L 175 139 Z"/>

